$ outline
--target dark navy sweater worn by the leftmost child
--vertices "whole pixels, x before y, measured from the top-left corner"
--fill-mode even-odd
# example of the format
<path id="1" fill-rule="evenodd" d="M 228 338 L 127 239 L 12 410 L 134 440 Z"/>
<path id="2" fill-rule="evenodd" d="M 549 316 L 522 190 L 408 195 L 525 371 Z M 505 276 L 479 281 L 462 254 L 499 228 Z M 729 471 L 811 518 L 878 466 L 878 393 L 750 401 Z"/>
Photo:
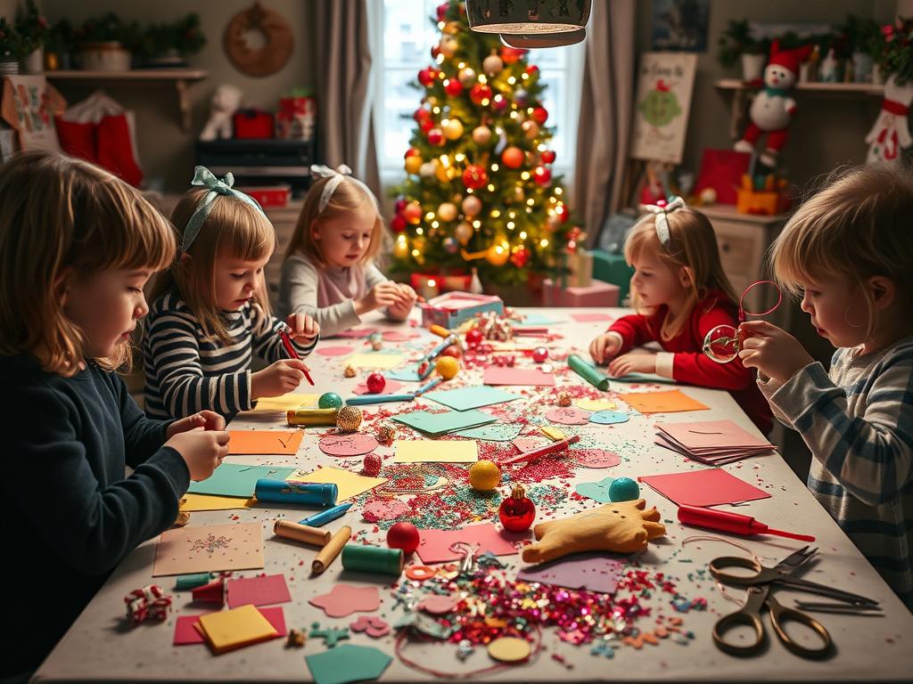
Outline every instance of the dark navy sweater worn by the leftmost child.
<path id="1" fill-rule="evenodd" d="M 37 668 L 124 556 L 172 525 L 190 473 L 163 447 L 168 422 L 95 363 L 63 378 L 0 357 L 0 378 L 4 677 Z"/>

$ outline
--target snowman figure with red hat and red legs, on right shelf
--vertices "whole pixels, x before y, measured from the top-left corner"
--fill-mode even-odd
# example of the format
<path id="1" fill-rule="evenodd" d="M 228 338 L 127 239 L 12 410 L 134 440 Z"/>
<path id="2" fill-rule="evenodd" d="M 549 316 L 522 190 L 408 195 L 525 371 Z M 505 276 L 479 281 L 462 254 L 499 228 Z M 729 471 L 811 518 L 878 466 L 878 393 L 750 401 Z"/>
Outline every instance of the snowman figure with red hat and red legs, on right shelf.
<path id="1" fill-rule="evenodd" d="M 754 151 L 755 143 L 767 134 L 767 143 L 761 152 L 761 163 L 773 167 L 786 143 L 787 129 L 796 110 L 795 100 L 788 91 L 796 82 L 799 65 L 811 54 L 810 46 L 781 50 L 780 41 L 771 45 L 771 61 L 764 67 L 764 88 L 751 102 L 750 124 L 734 148 L 738 152 Z"/>

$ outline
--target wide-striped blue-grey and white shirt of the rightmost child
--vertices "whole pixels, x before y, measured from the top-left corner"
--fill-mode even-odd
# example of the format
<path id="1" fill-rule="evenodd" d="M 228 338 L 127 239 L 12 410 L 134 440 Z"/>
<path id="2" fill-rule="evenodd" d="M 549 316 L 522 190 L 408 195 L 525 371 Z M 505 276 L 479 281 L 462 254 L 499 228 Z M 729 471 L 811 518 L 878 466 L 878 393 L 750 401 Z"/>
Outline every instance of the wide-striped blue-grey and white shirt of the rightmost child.
<path id="1" fill-rule="evenodd" d="M 913 337 L 758 384 L 812 451 L 809 489 L 913 610 Z"/>

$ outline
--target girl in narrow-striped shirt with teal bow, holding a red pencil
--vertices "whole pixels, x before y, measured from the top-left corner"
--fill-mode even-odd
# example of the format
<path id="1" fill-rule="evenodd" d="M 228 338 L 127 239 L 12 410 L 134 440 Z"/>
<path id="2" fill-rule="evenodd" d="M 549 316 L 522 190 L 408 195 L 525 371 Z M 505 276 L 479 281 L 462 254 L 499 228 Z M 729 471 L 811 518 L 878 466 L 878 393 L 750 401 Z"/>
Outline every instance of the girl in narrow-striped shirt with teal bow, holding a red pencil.
<path id="1" fill-rule="evenodd" d="M 192 183 L 201 187 L 174 208 L 179 254 L 155 284 L 143 341 L 152 417 L 200 409 L 231 417 L 296 389 L 309 368 L 287 358 L 279 332 L 306 357 L 320 331 L 304 314 L 270 315 L 263 269 L 276 232 L 260 205 L 232 188 L 230 173 L 219 180 L 198 166 Z M 252 372 L 255 353 L 269 366 Z"/>

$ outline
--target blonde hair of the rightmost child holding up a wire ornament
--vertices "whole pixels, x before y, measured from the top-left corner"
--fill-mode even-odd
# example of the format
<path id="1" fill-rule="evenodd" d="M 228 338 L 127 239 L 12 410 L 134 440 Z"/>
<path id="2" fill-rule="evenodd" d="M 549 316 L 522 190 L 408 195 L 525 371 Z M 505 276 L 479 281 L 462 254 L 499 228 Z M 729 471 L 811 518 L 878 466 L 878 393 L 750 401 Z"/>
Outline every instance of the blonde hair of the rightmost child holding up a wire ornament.
<path id="1" fill-rule="evenodd" d="M 913 176 L 894 164 L 874 163 L 838 170 L 824 190 L 803 202 L 771 245 L 773 274 L 793 296 L 800 282 L 850 278 L 868 306 L 870 336 L 877 316 L 863 282 L 890 278 L 913 298 Z"/>

